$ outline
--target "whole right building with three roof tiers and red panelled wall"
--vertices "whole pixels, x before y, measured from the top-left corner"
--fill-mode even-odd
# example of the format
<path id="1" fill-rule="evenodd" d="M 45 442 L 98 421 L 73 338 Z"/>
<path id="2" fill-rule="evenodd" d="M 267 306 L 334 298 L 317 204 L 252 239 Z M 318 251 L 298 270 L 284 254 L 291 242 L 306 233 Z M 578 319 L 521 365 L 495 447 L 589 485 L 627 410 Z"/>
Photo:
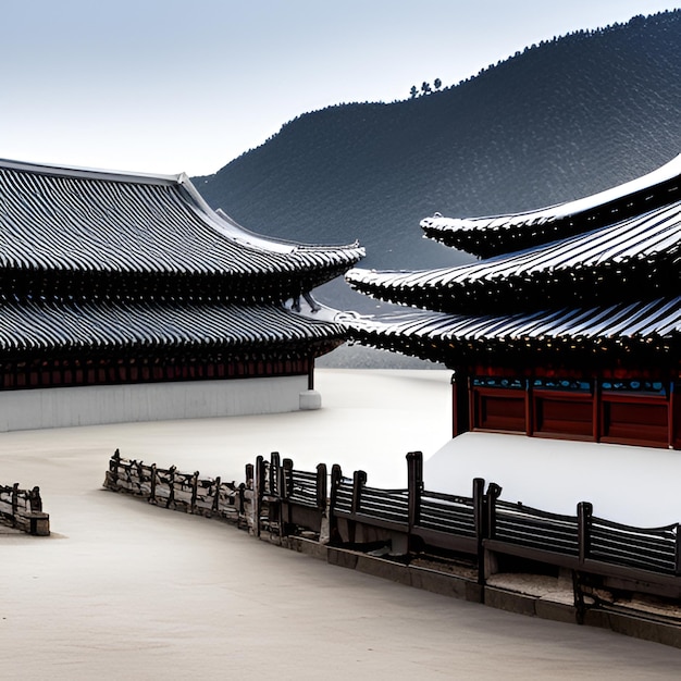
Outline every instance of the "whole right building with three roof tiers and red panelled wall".
<path id="1" fill-rule="evenodd" d="M 681 448 L 681 156 L 594 196 L 422 221 L 479 257 L 346 280 L 420 308 L 349 321 L 362 344 L 454 370 L 454 434 Z"/>

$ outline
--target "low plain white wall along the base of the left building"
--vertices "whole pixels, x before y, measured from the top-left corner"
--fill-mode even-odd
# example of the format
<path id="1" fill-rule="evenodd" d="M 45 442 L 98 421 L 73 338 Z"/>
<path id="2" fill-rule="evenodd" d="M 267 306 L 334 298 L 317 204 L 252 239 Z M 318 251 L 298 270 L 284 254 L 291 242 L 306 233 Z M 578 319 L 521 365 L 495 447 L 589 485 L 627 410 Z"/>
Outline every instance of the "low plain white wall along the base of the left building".
<path id="1" fill-rule="evenodd" d="M 0 431 L 296 411 L 308 377 L 0 392 Z"/>

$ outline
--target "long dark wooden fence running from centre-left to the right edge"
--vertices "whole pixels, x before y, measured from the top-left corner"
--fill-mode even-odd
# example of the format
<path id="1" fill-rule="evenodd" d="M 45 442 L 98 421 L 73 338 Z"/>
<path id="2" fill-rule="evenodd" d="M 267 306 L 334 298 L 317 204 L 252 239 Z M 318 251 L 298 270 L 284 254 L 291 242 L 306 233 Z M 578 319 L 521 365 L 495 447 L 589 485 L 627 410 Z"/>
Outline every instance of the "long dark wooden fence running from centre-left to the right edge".
<path id="1" fill-rule="evenodd" d="M 679 523 L 627 527 L 595 517 L 586 502 L 574 516 L 552 513 L 505 502 L 502 487 L 490 483 L 485 491 L 482 479 L 473 481 L 470 497 L 443 494 L 424 488 L 421 453 L 408 454 L 407 466 L 407 487 L 383 490 L 369 486 L 364 471 L 349 478 L 336 465 L 327 475 L 323 463 L 300 471 L 274 453 L 246 466 L 246 482 L 236 486 L 125 461 L 116 451 L 104 484 L 156 504 L 235 519 L 256 535 L 304 534 L 349 546 L 383 542 L 400 554 L 454 553 L 476 566 L 481 584 L 499 560 L 519 559 L 571 570 L 583 583 L 681 597 Z"/>

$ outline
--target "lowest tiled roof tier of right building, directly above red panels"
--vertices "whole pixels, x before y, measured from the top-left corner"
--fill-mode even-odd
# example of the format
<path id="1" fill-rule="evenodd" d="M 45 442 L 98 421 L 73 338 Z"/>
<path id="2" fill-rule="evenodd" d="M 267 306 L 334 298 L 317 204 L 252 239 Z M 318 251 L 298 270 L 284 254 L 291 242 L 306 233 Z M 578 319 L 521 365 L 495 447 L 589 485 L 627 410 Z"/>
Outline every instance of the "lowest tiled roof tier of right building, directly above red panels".
<path id="1" fill-rule="evenodd" d="M 681 351 L 681 297 L 609 307 L 542 308 L 515 314 L 445 314 L 413 311 L 345 318 L 357 340 L 375 347 L 456 366 L 498 355 L 570 355 L 603 360 L 655 355 L 678 361 Z"/>

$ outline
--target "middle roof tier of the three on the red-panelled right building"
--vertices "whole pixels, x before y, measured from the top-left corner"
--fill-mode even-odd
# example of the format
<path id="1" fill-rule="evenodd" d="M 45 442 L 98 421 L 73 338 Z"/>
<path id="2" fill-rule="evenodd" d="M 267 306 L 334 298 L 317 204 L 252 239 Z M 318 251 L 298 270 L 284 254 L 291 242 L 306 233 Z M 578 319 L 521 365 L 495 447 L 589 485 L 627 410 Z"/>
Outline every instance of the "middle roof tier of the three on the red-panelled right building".
<path id="1" fill-rule="evenodd" d="M 472 264 L 417 272 L 354 269 L 361 293 L 439 311 L 616 302 L 676 293 L 681 281 L 681 201 L 547 246 Z M 669 290 L 671 288 L 671 290 Z"/>

